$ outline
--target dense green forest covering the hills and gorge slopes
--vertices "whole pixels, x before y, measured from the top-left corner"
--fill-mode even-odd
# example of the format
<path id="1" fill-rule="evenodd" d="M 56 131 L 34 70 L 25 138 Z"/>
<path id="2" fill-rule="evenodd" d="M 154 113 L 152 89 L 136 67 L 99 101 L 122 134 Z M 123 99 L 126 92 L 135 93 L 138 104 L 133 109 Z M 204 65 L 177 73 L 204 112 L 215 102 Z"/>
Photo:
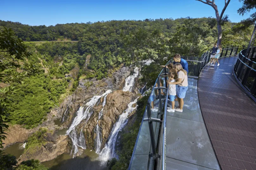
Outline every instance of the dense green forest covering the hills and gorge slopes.
<path id="1" fill-rule="evenodd" d="M 222 29 L 222 46 L 242 46 L 248 44 L 253 27 L 238 30 L 236 23 L 227 20 Z M 159 73 L 159 64 L 165 64 L 173 54 L 201 56 L 217 41 L 214 18 L 55 26 L 29 26 L 0 20 L 0 32 L 0 99 L 5 115 L 2 118 L 8 115 L 9 120 L 4 121 L 28 129 L 41 124 L 52 108 L 72 94 L 79 79 L 102 79 L 121 64 L 139 66 L 140 61 L 151 59 L 155 62 L 142 67 L 140 82 L 152 85 Z M 18 46 L 8 46 L 3 38 Z M 5 51 L 14 46 L 17 53 Z M 110 169 L 127 169 L 146 100 L 144 97 L 139 101 L 138 120 L 131 127 L 132 133 L 123 134 L 119 161 L 109 162 Z M 0 162 L 5 159 L 1 157 Z"/>

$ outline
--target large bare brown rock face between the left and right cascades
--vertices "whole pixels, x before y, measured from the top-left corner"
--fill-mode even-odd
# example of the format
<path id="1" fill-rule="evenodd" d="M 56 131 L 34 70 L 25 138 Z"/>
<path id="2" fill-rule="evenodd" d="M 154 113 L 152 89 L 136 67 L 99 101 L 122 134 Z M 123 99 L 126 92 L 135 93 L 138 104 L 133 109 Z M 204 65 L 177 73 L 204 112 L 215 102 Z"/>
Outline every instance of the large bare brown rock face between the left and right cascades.
<path id="1" fill-rule="evenodd" d="M 106 104 L 103 109 L 103 115 L 99 120 L 99 127 L 101 131 L 102 145 L 101 149 L 105 146 L 105 143 L 110 135 L 113 125 L 118 120 L 120 114 L 122 114 L 127 105 L 135 98 L 134 93 L 129 91 L 116 90 L 109 93 L 106 97 Z M 102 109 L 102 102 L 93 107 L 93 115 L 87 121 L 81 122 L 78 129 L 83 128 L 83 132 L 86 139 L 86 148 L 95 148 L 96 132 L 95 127 L 99 119 L 99 112 Z M 80 130 L 79 130 L 80 131 Z"/>

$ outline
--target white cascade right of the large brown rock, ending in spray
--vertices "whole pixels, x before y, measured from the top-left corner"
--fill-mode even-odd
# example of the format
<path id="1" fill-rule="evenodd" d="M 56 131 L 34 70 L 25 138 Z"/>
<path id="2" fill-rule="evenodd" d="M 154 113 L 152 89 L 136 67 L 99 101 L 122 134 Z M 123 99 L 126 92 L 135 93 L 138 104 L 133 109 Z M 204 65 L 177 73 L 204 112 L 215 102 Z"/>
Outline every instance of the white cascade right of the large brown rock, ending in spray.
<path id="1" fill-rule="evenodd" d="M 117 122 L 114 124 L 110 136 L 108 138 L 108 142 L 100 152 L 99 158 L 101 161 L 106 162 L 110 158 L 117 157 L 115 153 L 115 145 L 118 137 L 118 132 L 120 132 L 126 126 L 128 122 L 127 116 L 137 108 L 137 105 L 134 108 L 132 107 L 134 103 L 137 103 L 137 99 L 138 97 L 128 104 L 128 108 L 119 116 Z"/>

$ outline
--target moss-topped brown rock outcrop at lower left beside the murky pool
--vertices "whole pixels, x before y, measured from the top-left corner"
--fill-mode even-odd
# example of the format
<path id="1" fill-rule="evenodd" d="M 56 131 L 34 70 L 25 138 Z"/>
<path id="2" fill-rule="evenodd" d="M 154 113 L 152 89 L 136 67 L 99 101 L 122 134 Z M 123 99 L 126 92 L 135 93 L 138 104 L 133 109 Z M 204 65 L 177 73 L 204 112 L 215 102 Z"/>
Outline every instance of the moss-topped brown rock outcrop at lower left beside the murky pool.
<path id="1" fill-rule="evenodd" d="M 40 162 L 50 161 L 63 153 L 69 153 L 68 136 L 57 136 L 54 131 L 40 128 L 28 138 L 28 143 L 19 162 L 29 159 L 38 159 Z"/>

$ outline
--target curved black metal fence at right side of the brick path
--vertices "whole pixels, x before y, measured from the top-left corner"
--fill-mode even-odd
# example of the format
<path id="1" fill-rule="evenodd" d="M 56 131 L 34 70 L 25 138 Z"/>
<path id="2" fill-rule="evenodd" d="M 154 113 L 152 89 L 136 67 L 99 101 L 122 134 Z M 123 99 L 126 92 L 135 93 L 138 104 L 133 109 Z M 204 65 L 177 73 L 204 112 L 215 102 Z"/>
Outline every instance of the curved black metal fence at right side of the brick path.
<path id="1" fill-rule="evenodd" d="M 255 59 L 255 47 L 250 48 L 249 51 L 251 52 L 247 55 L 246 50 L 247 49 L 244 49 L 238 54 L 238 59 L 234 65 L 234 73 L 241 85 L 243 85 L 253 97 L 256 97 L 256 62 L 251 60 L 253 58 Z"/>

